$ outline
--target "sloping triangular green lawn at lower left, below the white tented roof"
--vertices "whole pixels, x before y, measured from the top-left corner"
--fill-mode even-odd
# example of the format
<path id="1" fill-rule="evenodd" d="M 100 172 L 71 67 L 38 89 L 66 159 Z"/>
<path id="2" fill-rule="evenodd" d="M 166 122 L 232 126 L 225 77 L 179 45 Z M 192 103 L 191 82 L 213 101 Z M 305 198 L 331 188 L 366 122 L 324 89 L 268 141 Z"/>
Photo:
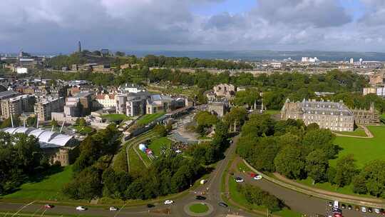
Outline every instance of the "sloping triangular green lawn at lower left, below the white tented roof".
<path id="1" fill-rule="evenodd" d="M 31 200 L 66 200 L 66 196 L 61 193 L 64 184 L 71 181 L 71 166 L 66 166 L 63 171 L 54 173 L 43 178 L 38 182 L 24 183 L 20 190 L 4 196 L 11 199 L 31 199 Z"/>

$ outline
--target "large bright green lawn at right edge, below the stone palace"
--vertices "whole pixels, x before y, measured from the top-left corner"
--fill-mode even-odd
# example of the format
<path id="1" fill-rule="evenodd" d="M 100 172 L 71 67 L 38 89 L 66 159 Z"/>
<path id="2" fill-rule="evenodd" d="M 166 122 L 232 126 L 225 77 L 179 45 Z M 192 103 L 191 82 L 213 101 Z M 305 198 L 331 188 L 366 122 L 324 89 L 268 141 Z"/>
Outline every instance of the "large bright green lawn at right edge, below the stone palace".
<path id="1" fill-rule="evenodd" d="M 338 158 L 352 153 L 359 168 L 374 159 L 385 160 L 385 126 L 367 126 L 367 128 L 373 133 L 374 138 L 337 136 L 334 143 L 342 148 Z M 336 166 L 336 163 L 337 159 L 330 161 L 332 166 Z"/>

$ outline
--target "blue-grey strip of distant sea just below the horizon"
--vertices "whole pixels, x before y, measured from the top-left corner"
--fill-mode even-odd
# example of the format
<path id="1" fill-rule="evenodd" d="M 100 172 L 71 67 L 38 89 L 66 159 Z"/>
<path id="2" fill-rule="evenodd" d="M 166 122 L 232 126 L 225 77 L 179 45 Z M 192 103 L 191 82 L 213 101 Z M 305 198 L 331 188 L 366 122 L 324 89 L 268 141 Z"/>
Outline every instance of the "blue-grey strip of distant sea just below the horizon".
<path id="1" fill-rule="evenodd" d="M 187 56 L 202 59 L 233 59 L 243 61 L 262 61 L 291 58 L 300 61 L 302 56 L 315 57 L 320 61 L 385 61 L 385 53 L 376 52 L 339 52 L 339 51 L 126 51 L 126 54 L 146 56 L 148 54 L 164 56 Z"/>

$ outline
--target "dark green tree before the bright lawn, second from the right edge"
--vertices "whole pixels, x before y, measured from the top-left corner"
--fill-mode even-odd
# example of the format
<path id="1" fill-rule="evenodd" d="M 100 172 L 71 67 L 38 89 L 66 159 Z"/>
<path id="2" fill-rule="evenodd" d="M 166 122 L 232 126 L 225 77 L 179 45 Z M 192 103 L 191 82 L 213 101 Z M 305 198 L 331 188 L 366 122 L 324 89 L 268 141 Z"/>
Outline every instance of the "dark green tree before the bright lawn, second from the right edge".
<path id="1" fill-rule="evenodd" d="M 336 177 L 334 182 L 339 187 L 348 186 L 351 183 L 351 179 L 358 173 L 356 168 L 354 156 L 349 154 L 339 158 L 337 161 Z"/>

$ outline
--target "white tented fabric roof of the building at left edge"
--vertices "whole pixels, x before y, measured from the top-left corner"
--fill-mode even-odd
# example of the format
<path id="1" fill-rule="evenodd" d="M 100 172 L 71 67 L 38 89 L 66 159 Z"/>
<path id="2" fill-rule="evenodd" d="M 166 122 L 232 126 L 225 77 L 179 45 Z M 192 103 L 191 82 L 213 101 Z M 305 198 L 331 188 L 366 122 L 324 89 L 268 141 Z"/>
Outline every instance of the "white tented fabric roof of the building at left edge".
<path id="1" fill-rule="evenodd" d="M 6 133 L 26 133 L 29 136 L 35 136 L 39 139 L 41 148 L 58 148 L 66 146 L 68 141 L 73 138 L 73 136 L 68 136 L 61 133 L 56 133 L 48 130 L 43 130 L 39 128 L 26 128 L 26 127 L 16 127 L 16 128 L 4 128 L 1 129 Z"/>

